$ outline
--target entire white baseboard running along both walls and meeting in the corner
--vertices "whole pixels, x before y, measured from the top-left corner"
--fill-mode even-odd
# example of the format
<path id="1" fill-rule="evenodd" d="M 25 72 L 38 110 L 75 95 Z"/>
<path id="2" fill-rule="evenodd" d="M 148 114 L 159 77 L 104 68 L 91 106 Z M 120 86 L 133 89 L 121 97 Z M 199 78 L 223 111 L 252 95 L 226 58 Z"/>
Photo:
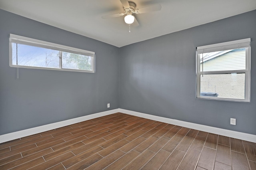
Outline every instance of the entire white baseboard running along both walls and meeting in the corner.
<path id="1" fill-rule="evenodd" d="M 22 137 L 29 136 L 29 135 L 32 135 L 32 134 L 37 134 L 37 133 L 45 132 L 45 131 L 48 131 L 48 130 L 52 130 L 52 129 L 72 125 L 74 123 L 87 121 L 87 120 L 94 119 L 94 118 L 97 118 L 97 117 L 111 115 L 111 114 L 117 113 L 117 112 L 125 113 L 125 114 L 128 114 L 128 115 L 134 115 L 134 116 L 138 116 L 138 117 L 143 117 L 143 118 L 146 118 L 146 119 L 151 119 L 151 120 L 154 120 L 154 121 L 164 122 L 164 123 L 168 123 L 168 124 L 172 124 L 172 125 L 182 126 L 182 127 L 186 127 L 186 128 L 202 130 L 204 132 L 210 132 L 210 133 L 214 133 L 214 134 L 228 136 L 228 137 L 231 137 L 231 138 L 237 138 L 237 139 L 246 140 L 246 141 L 250 141 L 250 142 L 256 142 L 256 135 L 254 135 L 254 134 L 236 132 L 236 131 L 233 131 L 233 130 L 227 130 L 227 129 L 222 129 L 222 128 L 210 127 L 210 126 L 206 126 L 206 125 L 200 125 L 200 124 L 196 124 L 196 123 L 179 121 L 179 120 L 175 120 L 175 119 L 169 119 L 169 118 L 165 118 L 165 117 L 149 115 L 149 114 L 146 114 L 146 113 L 129 111 L 129 110 L 125 110 L 125 109 L 113 109 L 113 110 L 110 110 L 110 111 L 94 113 L 94 114 L 91 114 L 91 115 L 86 115 L 86 116 L 83 116 L 83 117 L 77 117 L 77 118 L 69 119 L 69 120 L 66 120 L 66 121 L 60 121 L 60 122 L 51 123 L 51 124 L 48 124 L 48 125 L 29 128 L 29 129 L 25 129 L 25 130 L 20 130 L 20 131 L 17 131 L 17 132 L 2 134 L 2 135 L 0 135 L 0 143 L 7 142 L 7 141 L 10 141 L 10 140 L 14 140 L 14 139 L 17 139 L 17 138 L 22 138 Z"/>

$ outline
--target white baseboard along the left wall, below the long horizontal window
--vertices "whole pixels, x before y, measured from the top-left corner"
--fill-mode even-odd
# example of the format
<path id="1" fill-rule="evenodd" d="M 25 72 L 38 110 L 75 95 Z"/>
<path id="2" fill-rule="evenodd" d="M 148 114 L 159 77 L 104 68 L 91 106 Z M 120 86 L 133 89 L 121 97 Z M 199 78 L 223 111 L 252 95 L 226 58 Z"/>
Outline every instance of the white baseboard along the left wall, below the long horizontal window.
<path id="1" fill-rule="evenodd" d="M 97 118 L 97 117 L 111 115 L 111 114 L 117 113 L 117 112 L 119 112 L 119 109 L 113 109 L 113 110 L 110 110 L 110 111 L 94 113 L 94 114 L 91 114 L 91 115 L 77 117 L 77 118 L 69 119 L 69 120 L 66 120 L 66 121 L 60 121 L 60 122 L 51 123 L 51 124 L 48 124 L 48 125 L 42 125 L 42 126 L 39 126 L 39 127 L 20 130 L 20 131 L 17 131 L 17 132 L 2 134 L 2 135 L 0 135 L 0 143 L 7 142 L 7 141 L 10 141 L 10 140 L 14 140 L 14 139 L 18 139 L 18 138 L 22 138 L 22 137 L 29 136 L 29 135 L 32 135 L 32 134 L 37 134 L 37 133 L 45 132 L 45 131 L 48 131 L 48 130 L 52 130 L 52 129 L 72 125 L 72 124 L 79 123 L 79 122 L 82 122 L 82 121 L 87 121 L 87 120 L 94 119 L 94 118 Z"/>

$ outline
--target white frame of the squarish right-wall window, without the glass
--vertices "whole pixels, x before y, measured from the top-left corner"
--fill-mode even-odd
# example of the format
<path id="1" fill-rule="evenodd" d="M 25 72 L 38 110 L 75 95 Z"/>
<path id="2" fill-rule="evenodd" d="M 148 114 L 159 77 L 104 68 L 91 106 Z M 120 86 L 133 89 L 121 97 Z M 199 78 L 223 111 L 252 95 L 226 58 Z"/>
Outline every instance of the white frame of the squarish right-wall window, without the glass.
<path id="1" fill-rule="evenodd" d="M 198 99 L 211 99 L 211 100 L 223 100 L 223 101 L 237 101 L 237 102 L 250 102 L 250 59 L 251 59 L 251 49 L 250 49 L 250 38 L 235 40 L 224 43 L 216 43 L 211 45 L 204 45 L 196 48 L 196 98 Z M 229 71 L 200 71 L 200 54 L 209 53 L 214 51 L 224 51 L 228 49 L 246 49 L 246 69 L 244 70 L 229 70 Z M 244 99 L 230 99 L 221 97 L 210 97 L 210 96 L 200 96 L 200 77 L 201 75 L 210 74 L 227 74 L 227 73 L 245 73 L 245 92 Z"/>

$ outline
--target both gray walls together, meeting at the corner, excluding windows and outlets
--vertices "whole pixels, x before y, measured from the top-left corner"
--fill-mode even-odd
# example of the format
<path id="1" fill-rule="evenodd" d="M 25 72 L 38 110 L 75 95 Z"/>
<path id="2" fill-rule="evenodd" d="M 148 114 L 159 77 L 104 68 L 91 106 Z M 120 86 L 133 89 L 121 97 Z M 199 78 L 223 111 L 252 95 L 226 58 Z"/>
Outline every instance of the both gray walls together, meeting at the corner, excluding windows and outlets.
<path id="1" fill-rule="evenodd" d="M 256 10 L 118 48 L 0 10 L 0 135 L 118 107 L 256 134 L 255 18 Z M 96 73 L 20 68 L 17 79 L 10 33 L 95 51 Z M 243 38 L 252 40 L 251 102 L 196 99 L 196 47 Z"/>

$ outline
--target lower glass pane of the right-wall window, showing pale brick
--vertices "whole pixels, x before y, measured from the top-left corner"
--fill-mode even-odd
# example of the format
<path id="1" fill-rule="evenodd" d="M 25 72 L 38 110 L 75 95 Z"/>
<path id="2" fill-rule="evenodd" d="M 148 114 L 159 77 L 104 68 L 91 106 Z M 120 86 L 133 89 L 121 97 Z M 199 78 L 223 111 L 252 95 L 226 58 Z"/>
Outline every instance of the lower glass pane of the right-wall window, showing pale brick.
<path id="1" fill-rule="evenodd" d="M 200 75 L 200 96 L 244 99 L 245 73 Z"/>

